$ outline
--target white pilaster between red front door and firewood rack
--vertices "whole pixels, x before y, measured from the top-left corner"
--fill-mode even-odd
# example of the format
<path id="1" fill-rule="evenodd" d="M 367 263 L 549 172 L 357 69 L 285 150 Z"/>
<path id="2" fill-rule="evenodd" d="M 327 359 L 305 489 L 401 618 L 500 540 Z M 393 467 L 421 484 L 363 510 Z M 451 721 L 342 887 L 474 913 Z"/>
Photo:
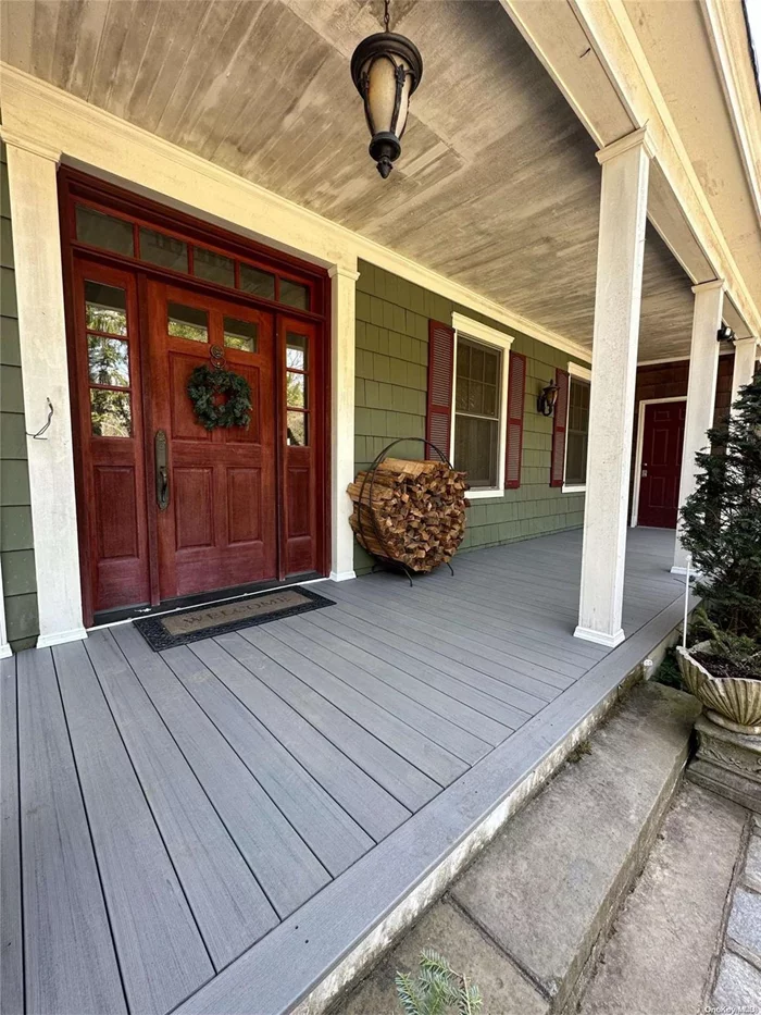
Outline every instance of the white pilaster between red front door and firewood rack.
<path id="1" fill-rule="evenodd" d="M 332 377 L 330 413 L 330 522 L 333 553 L 330 578 L 346 581 L 354 578 L 354 534 L 349 525 L 351 498 L 346 492 L 354 479 L 354 337 L 357 260 L 353 264 L 335 264 L 328 269 L 333 280 L 332 307 Z"/>

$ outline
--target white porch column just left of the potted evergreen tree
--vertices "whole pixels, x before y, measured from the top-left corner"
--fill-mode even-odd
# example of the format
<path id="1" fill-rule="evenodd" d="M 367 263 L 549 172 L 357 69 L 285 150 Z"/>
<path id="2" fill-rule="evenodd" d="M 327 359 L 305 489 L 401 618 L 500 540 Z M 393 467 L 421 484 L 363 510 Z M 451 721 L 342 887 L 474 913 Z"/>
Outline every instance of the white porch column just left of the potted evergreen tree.
<path id="1" fill-rule="evenodd" d="M 682 449 L 682 473 L 679 475 L 679 510 L 697 486 L 698 469 L 695 456 L 708 446 L 706 431 L 713 426 L 716 403 L 716 376 L 719 374 L 719 342 L 716 333 L 722 323 L 724 282 L 703 282 L 694 285 L 695 311 L 693 313 L 693 341 L 689 347 L 689 380 L 687 382 L 687 411 L 685 416 L 685 440 Z M 677 522 L 674 545 L 674 574 L 684 574 L 687 569 L 687 553 L 679 539 Z"/>

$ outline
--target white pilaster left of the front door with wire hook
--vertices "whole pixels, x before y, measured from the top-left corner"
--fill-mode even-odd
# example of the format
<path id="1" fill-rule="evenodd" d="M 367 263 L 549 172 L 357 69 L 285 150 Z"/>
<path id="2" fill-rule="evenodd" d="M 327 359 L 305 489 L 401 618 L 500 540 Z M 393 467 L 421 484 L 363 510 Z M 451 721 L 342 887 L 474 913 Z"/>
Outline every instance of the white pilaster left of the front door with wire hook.
<path id="1" fill-rule="evenodd" d="M 60 152 L 16 145 L 5 132 L 13 215 L 26 429 L 54 414 L 45 440 L 27 437 L 35 539 L 38 645 L 86 638 L 82 618 L 55 172 Z"/>

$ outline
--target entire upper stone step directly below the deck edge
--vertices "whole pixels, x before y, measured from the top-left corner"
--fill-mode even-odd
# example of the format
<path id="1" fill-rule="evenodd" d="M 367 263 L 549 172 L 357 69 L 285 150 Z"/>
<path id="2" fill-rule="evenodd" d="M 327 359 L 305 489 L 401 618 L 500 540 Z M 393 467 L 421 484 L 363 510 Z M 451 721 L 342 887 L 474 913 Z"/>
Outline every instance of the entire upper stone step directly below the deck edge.
<path id="1" fill-rule="evenodd" d="M 415 970 L 423 948 L 477 983 L 491 1015 L 573 1005 L 678 785 L 698 711 L 689 695 L 638 685 L 589 753 L 509 821 L 341 1015 L 399 1011 L 395 974 Z"/>

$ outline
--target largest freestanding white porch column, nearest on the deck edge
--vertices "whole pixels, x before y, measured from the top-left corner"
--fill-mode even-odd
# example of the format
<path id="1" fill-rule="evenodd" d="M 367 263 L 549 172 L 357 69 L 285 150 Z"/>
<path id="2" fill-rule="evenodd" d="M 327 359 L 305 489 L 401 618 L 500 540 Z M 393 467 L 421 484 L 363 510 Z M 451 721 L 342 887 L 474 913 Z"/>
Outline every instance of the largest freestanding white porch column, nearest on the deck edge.
<path id="1" fill-rule="evenodd" d="M 602 190 L 582 591 L 574 633 L 610 647 L 624 640 L 626 510 L 651 154 L 645 128 L 597 153 Z"/>

